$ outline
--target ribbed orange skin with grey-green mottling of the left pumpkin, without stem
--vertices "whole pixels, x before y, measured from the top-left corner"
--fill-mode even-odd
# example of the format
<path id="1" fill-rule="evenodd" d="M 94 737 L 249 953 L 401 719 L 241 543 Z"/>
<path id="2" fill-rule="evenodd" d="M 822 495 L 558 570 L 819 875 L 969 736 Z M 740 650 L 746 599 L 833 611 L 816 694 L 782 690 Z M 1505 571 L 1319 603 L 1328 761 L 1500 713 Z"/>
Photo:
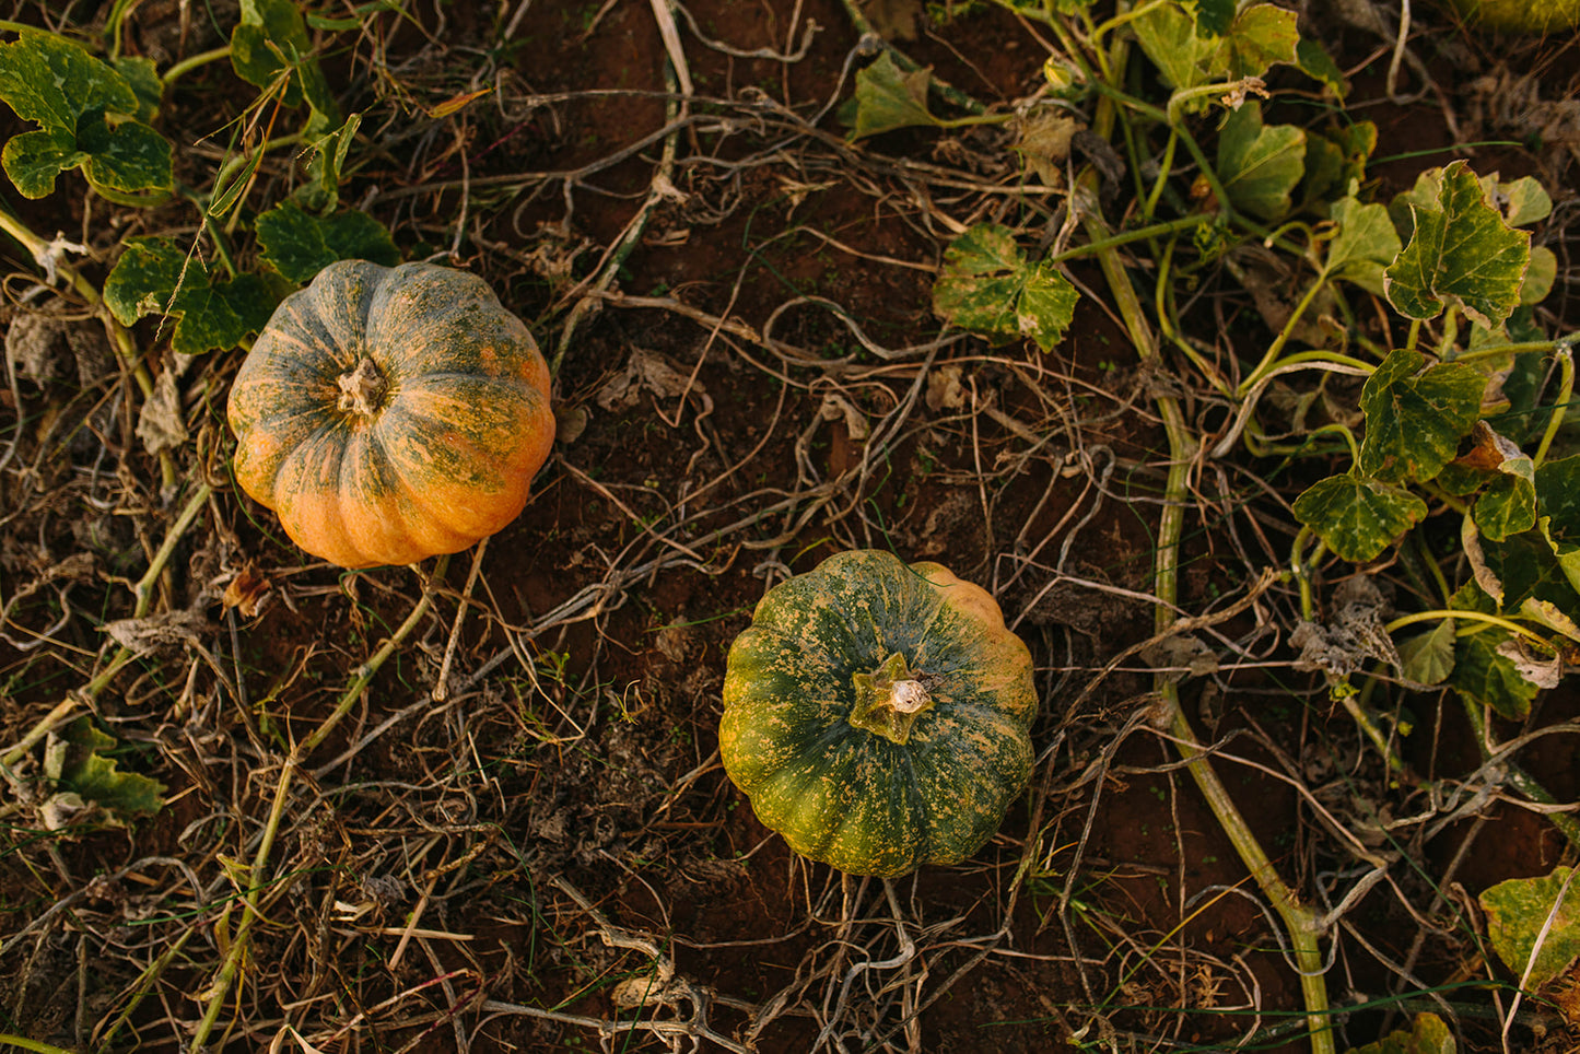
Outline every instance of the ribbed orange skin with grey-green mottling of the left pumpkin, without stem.
<path id="1" fill-rule="evenodd" d="M 343 408 L 370 359 L 384 390 Z M 482 278 L 330 264 L 286 297 L 237 371 L 235 479 L 343 567 L 453 553 L 520 515 L 548 458 L 548 367 Z"/>

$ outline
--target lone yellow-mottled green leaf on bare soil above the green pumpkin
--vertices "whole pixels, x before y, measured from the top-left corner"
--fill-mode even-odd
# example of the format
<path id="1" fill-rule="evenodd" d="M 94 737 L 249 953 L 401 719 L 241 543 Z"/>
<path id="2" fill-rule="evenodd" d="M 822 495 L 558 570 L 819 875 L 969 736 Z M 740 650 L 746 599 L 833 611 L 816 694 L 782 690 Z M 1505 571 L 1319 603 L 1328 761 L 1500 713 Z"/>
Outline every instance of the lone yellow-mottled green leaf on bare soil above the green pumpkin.
<path id="1" fill-rule="evenodd" d="M 1043 351 L 1063 338 L 1079 294 L 1057 267 L 1027 262 L 1008 228 L 980 223 L 943 253 L 932 310 L 994 343 L 1030 337 Z"/>

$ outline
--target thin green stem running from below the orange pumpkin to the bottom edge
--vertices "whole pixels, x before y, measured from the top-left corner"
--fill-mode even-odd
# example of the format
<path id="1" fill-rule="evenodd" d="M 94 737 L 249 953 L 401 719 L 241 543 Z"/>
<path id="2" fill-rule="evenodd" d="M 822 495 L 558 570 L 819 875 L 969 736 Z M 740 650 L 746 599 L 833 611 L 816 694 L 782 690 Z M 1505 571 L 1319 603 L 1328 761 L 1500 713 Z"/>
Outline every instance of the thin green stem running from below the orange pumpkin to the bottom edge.
<path id="1" fill-rule="evenodd" d="M 444 570 L 449 567 L 450 558 L 441 556 L 433 569 L 433 575 L 423 583 L 422 597 L 412 607 L 411 615 L 401 623 L 389 640 L 373 653 L 373 656 L 357 667 L 356 676 L 346 687 L 335 710 L 319 722 L 313 735 L 307 736 L 297 743 L 291 754 L 286 757 L 284 765 L 280 770 L 280 779 L 275 782 L 275 800 L 269 809 L 269 820 L 264 823 L 262 839 L 258 842 L 258 852 L 253 855 L 253 864 L 245 871 L 248 877 L 248 886 L 242 891 L 242 920 L 235 926 L 235 932 L 231 935 L 231 947 L 226 950 L 224 959 L 220 964 L 220 972 L 215 980 L 204 989 L 204 999 L 207 1005 L 204 1007 L 202 1019 L 199 1019 L 191 1040 L 188 1040 L 188 1049 L 201 1051 L 209 1043 L 209 1033 L 213 1032 L 215 1024 L 220 1021 L 220 1011 L 224 1010 L 224 1002 L 229 997 L 231 988 L 235 984 L 237 977 L 242 973 L 242 964 L 246 961 L 246 950 L 250 945 L 250 937 L 253 934 L 253 926 L 262 918 L 262 905 L 259 902 L 259 891 L 264 888 L 261 875 L 269 866 L 269 856 L 273 853 L 275 839 L 280 834 L 280 823 L 284 817 L 286 804 L 291 800 L 291 782 L 295 773 L 302 768 L 303 762 L 316 751 L 324 740 L 335 730 L 337 725 L 351 713 L 351 708 L 357 705 L 362 694 L 368 691 L 368 684 L 379 668 L 395 654 L 397 649 L 406 642 L 406 638 L 417 629 L 422 619 L 428 615 L 433 607 L 433 596 L 438 583 L 444 580 Z M 276 885 L 275 894 L 283 894 L 289 888 L 291 880 L 286 879 Z"/>

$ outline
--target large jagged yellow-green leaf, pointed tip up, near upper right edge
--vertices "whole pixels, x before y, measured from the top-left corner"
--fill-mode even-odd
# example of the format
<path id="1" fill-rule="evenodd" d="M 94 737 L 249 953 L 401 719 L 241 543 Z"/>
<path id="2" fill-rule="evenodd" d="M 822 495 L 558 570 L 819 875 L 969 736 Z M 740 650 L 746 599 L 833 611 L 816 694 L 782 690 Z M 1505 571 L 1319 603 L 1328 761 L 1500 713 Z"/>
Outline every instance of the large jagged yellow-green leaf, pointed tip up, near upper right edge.
<path id="1" fill-rule="evenodd" d="M 1482 326 L 1498 326 L 1520 303 L 1531 235 L 1504 223 L 1465 161 L 1449 164 L 1441 179 L 1435 202 L 1409 202 L 1414 231 L 1387 269 L 1387 299 L 1413 319 L 1436 318 L 1446 303 L 1457 303 Z M 1417 180 L 1409 193 L 1420 190 Z"/>

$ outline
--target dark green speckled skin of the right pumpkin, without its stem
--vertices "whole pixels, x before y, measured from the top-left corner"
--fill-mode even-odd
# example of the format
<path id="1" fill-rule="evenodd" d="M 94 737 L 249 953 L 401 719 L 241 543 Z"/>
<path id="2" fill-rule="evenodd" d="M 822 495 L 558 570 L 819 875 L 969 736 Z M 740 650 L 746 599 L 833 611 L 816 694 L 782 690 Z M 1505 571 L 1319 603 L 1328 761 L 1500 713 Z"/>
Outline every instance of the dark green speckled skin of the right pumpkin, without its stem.
<path id="1" fill-rule="evenodd" d="M 852 676 L 902 653 L 934 705 L 907 743 L 853 727 Z M 1032 771 L 1032 656 L 994 599 L 860 550 L 769 589 L 730 646 L 719 751 L 804 856 L 896 877 L 976 852 Z"/>

